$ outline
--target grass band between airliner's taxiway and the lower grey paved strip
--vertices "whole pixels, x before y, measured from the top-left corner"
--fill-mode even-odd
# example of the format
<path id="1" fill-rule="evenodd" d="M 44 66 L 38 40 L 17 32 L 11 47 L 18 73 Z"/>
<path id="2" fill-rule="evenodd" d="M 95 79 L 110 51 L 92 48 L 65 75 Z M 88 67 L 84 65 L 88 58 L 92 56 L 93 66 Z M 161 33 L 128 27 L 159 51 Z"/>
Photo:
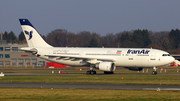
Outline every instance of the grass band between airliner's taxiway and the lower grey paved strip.
<path id="1" fill-rule="evenodd" d="M 123 77 L 123 79 L 122 79 Z M 115 83 L 180 85 L 177 75 L 49 75 L 5 76 L 0 82 L 66 82 L 66 83 Z"/>

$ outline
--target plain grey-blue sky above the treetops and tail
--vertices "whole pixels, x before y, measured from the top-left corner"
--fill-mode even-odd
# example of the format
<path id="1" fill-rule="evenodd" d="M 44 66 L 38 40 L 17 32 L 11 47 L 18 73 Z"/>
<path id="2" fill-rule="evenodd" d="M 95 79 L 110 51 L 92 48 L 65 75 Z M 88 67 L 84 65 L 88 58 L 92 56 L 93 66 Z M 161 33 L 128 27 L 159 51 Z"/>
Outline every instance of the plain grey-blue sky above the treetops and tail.
<path id="1" fill-rule="evenodd" d="M 0 32 L 22 31 L 27 18 L 43 35 L 55 29 L 101 35 L 180 29 L 180 0 L 1 0 Z"/>

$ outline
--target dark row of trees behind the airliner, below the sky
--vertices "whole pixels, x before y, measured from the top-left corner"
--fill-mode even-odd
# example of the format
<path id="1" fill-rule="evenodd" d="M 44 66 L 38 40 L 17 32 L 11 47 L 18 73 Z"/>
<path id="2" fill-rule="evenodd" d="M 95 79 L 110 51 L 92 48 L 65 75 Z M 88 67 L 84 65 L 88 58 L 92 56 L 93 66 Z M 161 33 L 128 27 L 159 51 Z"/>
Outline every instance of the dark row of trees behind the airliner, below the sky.
<path id="1" fill-rule="evenodd" d="M 179 29 L 160 32 L 137 29 L 104 36 L 89 31 L 73 33 L 66 29 L 56 29 L 42 37 L 55 47 L 156 48 L 171 54 L 180 53 Z M 23 32 L 18 37 L 12 31 L 4 32 L 3 39 L 8 43 L 26 43 Z"/>

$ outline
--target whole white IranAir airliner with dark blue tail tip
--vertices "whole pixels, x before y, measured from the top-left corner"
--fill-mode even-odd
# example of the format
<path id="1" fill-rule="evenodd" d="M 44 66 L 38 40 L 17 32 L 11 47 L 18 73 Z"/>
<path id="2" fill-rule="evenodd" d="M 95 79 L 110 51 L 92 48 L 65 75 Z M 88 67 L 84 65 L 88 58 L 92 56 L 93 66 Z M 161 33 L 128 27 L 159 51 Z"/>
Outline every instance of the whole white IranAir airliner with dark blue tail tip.
<path id="1" fill-rule="evenodd" d="M 157 74 L 157 66 L 174 61 L 169 53 L 152 48 L 69 48 L 53 47 L 47 44 L 28 19 L 19 19 L 28 47 L 21 50 L 31 52 L 39 58 L 70 66 L 90 66 L 86 74 L 96 74 L 93 69 L 112 74 L 116 66 L 141 71 L 152 67 Z"/>

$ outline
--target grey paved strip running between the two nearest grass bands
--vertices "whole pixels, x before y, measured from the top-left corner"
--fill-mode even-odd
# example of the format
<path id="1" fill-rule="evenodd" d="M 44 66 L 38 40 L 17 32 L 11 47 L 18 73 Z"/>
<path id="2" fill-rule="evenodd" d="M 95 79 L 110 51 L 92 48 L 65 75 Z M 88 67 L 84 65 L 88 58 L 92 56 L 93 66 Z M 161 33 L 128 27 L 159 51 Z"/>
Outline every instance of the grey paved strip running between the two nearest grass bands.
<path id="1" fill-rule="evenodd" d="M 131 85 L 131 84 L 95 84 L 95 83 L 25 83 L 0 82 L 0 88 L 46 88 L 46 89 L 111 89 L 111 90 L 176 90 L 178 85 Z"/>

